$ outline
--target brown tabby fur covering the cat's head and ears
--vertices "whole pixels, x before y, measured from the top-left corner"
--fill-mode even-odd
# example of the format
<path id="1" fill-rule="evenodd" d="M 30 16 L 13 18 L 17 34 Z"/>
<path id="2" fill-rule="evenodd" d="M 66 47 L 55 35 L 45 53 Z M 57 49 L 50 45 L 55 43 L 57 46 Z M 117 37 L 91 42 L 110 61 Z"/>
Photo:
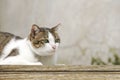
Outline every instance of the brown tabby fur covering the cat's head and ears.
<path id="1" fill-rule="evenodd" d="M 34 24 L 28 38 L 35 48 L 43 47 L 46 42 L 49 42 L 48 32 L 50 32 L 54 36 L 55 42 L 60 43 L 60 37 L 58 36 L 56 31 L 57 27 L 58 25 L 50 29 L 45 27 L 39 27 Z"/>

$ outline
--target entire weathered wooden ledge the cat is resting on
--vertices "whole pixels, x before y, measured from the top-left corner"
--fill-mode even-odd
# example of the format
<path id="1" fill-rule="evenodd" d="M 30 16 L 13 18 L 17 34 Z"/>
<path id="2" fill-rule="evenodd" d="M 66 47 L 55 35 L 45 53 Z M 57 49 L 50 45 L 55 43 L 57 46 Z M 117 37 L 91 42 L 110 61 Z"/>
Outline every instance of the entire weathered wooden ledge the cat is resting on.
<path id="1" fill-rule="evenodd" d="M 0 80 L 120 80 L 120 66 L 0 66 Z"/>

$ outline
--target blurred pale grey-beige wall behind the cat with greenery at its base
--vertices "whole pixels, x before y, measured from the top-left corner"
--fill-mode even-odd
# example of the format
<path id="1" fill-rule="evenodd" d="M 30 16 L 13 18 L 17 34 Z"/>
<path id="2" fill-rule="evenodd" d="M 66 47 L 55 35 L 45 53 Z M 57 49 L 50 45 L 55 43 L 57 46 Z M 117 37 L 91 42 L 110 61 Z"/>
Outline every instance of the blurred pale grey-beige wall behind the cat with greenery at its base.
<path id="1" fill-rule="evenodd" d="M 120 0 L 0 0 L 0 31 L 26 37 L 61 23 L 58 63 L 120 62 Z"/>

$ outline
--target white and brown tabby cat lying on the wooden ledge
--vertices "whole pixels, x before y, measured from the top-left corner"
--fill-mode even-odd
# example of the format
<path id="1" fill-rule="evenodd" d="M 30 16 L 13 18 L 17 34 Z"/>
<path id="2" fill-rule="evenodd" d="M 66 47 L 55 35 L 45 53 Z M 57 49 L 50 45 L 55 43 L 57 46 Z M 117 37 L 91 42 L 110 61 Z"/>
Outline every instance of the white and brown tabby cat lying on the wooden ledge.
<path id="1" fill-rule="evenodd" d="M 0 65 L 55 65 L 59 25 L 46 28 L 33 24 L 27 38 L 0 32 Z"/>

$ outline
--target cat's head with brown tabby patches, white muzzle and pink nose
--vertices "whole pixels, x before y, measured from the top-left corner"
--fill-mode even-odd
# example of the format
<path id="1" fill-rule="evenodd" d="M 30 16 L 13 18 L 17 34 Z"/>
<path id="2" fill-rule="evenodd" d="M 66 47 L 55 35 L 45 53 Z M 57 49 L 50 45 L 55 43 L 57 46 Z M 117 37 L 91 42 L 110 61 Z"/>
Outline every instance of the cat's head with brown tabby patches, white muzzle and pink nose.
<path id="1" fill-rule="evenodd" d="M 29 41 L 30 47 L 36 54 L 47 56 L 52 55 L 56 51 L 60 44 L 60 37 L 57 33 L 59 25 L 52 28 L 32 25 Z"/>

